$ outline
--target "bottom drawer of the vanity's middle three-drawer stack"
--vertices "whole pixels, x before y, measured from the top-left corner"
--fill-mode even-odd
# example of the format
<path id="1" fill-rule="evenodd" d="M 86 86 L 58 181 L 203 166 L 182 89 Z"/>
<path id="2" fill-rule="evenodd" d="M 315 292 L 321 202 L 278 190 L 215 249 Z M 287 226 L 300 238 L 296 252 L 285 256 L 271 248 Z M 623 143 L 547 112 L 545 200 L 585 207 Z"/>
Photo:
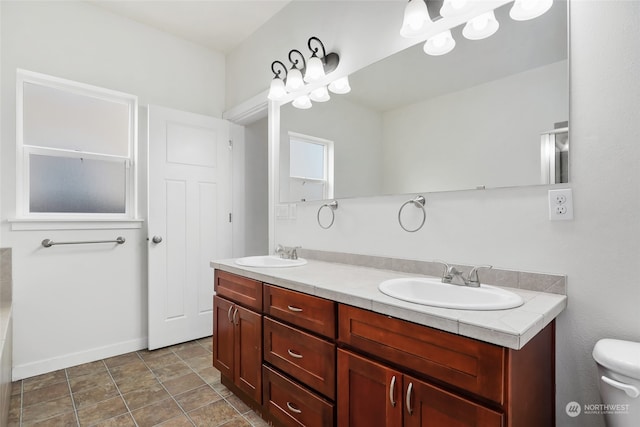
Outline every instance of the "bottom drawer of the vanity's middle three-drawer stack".
<path id="1" fill-rule="evenodd" d="M 277 425 L 329 427 L 335 425 L 334 405 L 264 365 L 265 409 Z"/>

